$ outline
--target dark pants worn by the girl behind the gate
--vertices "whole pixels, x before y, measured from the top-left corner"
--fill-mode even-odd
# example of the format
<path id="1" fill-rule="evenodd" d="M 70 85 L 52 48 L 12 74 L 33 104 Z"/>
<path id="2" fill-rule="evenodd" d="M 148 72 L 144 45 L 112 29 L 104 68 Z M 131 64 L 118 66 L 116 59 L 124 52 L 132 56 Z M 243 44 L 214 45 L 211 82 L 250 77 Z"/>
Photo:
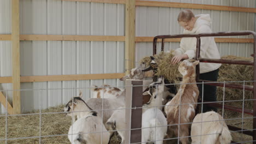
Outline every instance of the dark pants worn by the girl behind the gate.
<path id="1" fill-rule="evenodd" d="M 208 80 L 208 81 L 217 81 L 219 75 L 219 69 L 210 71 L 208 73 L 200 74 L 200 80 Z M 197 85 L 200 92 L 200 98 L 202 99 L 202 84 Z M 217 95 L 216 95 L 216 86 L 210 86 L 203 84 L 203 101 L 217 101 Z M 216 111 L 217 109 L 215 107 L 207 106 L 206 104 L 203 104 L 203 112 L 207 111 Z"/>

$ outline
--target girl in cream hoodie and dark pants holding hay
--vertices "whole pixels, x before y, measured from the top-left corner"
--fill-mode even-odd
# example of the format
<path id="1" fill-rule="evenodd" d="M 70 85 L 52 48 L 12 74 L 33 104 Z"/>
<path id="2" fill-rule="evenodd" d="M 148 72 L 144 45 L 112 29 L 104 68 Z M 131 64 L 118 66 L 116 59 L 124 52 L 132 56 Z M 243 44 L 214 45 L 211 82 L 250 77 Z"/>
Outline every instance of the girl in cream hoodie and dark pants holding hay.
<path id="1" fill-rule="evenodd" d="M 179 26 L 184 28 L 184 34 L 212 33 L 211 17 L 209 14 L 194 16 L 191 10 L 182 10 L 178 15 Z M 195 57 L 196 38 L 182 38 L 180 48 L 174 51 L 175 56 L 171 63 L 176 64 L 182 59 Z M 201 37 L 200 58 L 219 59 L 219 51 L 213 37 Z M 218 63 L 200 63 L 200 79 L 217 81 L 219 67 Z M 200 96 L 202 98 L 202 85 L 199 85 Z M 216 101 L 216 86 L 203 85 L 203 100 Z M 203 105 L 203 112 L 217 111 L 216 108 Z"/>

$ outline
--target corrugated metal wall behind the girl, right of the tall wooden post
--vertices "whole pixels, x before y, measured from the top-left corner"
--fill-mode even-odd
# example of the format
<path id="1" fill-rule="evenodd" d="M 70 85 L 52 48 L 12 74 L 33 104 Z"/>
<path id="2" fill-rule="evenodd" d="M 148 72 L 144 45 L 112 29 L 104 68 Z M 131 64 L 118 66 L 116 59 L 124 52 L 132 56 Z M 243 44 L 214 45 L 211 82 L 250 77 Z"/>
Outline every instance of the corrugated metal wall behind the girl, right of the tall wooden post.
<path id="1" fill-rule="evenodd" d="M 161 0 L 162 2 L 182 2 L 196 4 L 227 5 L 232 7 L 255 8 L 255 0 Z M 183 28 L 179 27 L 177 16 L 181 8 L 162 7 L 137 7 L 136 13 L 136 36 L 154 37 L 162 34 L 181 34 Z M 212 18 L 212 31 L 254 31 L 255 14 L 236 11 L 200 10 L 192 9 L 196 14 L 210 14 Z M 224 38 L 224 37 L 222 37 Z M 238 38 L 238 37 L 230 37 Z M 248 38 L 241 36 L 239 38 Z M 252 38 L 252 37 L 250 37 Z M 253 44 L 217 43 L 220 55 L 235 55 L 248 57 L 253 53 Z M 179 43 L 166 43 L 165 50 L 174 50 L 179 47 Z M 158 46 L 160 50 L 160 46 Z M 152 55 L 152 43 L 136 44 L 136 61 Z"/>

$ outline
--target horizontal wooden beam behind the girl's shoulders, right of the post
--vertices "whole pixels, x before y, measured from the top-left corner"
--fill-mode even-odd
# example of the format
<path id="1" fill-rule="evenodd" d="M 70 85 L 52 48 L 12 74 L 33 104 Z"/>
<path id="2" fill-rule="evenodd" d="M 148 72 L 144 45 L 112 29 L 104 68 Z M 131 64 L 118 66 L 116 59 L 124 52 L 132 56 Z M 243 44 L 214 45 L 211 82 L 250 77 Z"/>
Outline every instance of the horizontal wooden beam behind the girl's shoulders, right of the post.
<path id="1" fill-rule="evenodd" d="M 154 37 L 136 37 L 136 42 L 153 42 Z M 161 42 L 161 39 L 158 39 Z M 215 38 L 216 43 L 254 43 L 253 39 Z M 181 38 L 165 39 L 165 42 L 181 42 Z"/>

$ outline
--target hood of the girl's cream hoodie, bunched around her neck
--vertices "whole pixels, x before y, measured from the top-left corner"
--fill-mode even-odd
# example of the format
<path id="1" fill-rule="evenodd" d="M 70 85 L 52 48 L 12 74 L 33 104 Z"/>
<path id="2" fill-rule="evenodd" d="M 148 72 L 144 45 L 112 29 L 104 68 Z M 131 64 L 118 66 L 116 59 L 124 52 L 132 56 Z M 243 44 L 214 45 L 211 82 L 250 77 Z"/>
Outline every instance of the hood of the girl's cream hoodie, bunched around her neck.
<path id="1" fill-rule="evenodd" d="M 196 15 L 195 18 L 197 18 L 194 28 L 191 31 L 187 31 L 184 29 L 184 33 L 191 34 L 196 33 L 197 29 L 199 29 L 203 25 L 207 25 L 208 27 L 211 27 L 211 17 L 210 14 L 200 14 Z"/>

